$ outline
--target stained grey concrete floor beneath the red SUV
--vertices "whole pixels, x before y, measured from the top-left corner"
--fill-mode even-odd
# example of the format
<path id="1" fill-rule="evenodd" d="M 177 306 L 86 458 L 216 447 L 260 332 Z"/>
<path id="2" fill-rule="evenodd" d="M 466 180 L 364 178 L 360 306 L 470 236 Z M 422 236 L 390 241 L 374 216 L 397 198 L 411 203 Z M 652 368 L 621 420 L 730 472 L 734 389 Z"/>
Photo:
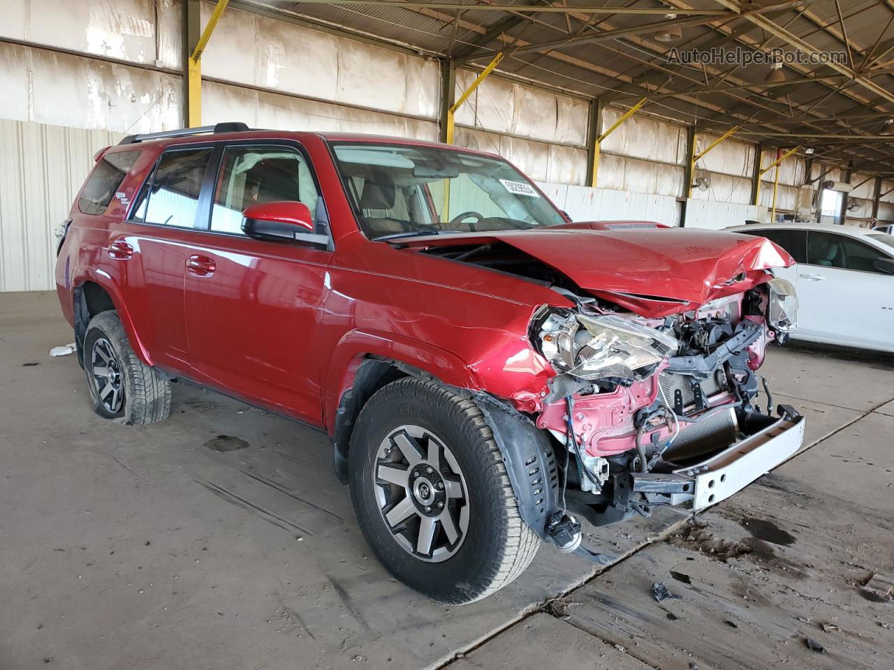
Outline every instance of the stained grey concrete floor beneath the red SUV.
<path id="1" fill-rule="evenodd" d="M 773 348 L 809 422 L 789 463 L 695 519 L 590 532 L 601 574 L 544 547 L 444 607 L 370 556 L 325 436 L 186 384 L 165 423 L 101 421 L 47 356 L 71 340 L 55 294 L 0 294 L 2 670 L 894 667 L 894 602 L 864 588 L 894 574 L 890 357 Z"/>

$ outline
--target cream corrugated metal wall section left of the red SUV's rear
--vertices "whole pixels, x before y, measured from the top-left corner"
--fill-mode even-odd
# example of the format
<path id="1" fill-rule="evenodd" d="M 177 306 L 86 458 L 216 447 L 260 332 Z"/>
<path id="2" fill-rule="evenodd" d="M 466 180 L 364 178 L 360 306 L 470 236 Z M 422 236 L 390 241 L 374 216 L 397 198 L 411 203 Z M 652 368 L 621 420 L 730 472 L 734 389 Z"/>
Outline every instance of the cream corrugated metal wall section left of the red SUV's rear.
<path id="1" fill-rule="evenodd" d="M 0 291 L 53 289 L 55 226 L 68 218 L 103 130 L 0 121 Z"/>

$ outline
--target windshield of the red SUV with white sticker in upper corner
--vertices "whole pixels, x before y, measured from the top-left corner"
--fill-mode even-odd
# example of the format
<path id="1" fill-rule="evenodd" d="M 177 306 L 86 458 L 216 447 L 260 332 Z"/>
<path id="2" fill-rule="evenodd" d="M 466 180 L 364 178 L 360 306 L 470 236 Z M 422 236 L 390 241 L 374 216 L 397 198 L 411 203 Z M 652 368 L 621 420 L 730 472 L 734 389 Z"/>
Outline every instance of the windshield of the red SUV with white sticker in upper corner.
<path id="1" fill-rule="evenodd" d="M 367 143 L 334 143 L 333 152 L 370 239 L 565 222 L 527 177 L 500 158 Z"/>

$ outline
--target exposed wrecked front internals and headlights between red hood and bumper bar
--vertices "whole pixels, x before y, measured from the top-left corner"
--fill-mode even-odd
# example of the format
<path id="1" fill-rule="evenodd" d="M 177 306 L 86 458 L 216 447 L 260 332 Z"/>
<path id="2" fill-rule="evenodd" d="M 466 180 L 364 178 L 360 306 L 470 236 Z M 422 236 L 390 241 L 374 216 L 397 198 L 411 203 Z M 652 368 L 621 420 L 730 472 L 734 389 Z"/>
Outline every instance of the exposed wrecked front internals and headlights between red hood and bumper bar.
<path id="1" fill-rule="evenodd" d="M 796 320 L 794 289 L 772 278 L 660 319 L 592 299 L 542 306 L 529 336 L 557 374 L 536 422 L 567 450 L 569 510 L 602 525 L 655 505 L 691 508 L 693 482 L 676 473 L 779 421 L 756 371 Z"/>

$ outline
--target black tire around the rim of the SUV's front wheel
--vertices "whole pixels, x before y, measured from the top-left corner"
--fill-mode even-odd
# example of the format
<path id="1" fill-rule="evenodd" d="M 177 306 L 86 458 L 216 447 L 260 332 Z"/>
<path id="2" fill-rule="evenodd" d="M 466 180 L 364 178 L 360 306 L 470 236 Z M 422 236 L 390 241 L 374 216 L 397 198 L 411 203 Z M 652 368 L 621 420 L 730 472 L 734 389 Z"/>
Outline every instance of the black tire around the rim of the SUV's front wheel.
<path id="1" fill-rule="evenodd" d="M 399 544 L 376 498 L 381 480 L 374 480 L 374 472 L 381 471 L 374 469 L 391 465 L 377 456 L 378 450 L 407 424 L 431 431 L 449 446 L 468 490 L 463 540 L 440 562 L 426 562 Z M 452 605 L 483 599 L 518 577 L 540 547 L 540 538 L 519 516 L 500 449 L 481 410 L 434 381 L 392 381 L 369 399 L 351 435 L 349 473 L 354 512 L 375 556 L 401 582 L 429 598 Z M 436 533 L 441 540 L 448 537 L 443 527 Z"/>

